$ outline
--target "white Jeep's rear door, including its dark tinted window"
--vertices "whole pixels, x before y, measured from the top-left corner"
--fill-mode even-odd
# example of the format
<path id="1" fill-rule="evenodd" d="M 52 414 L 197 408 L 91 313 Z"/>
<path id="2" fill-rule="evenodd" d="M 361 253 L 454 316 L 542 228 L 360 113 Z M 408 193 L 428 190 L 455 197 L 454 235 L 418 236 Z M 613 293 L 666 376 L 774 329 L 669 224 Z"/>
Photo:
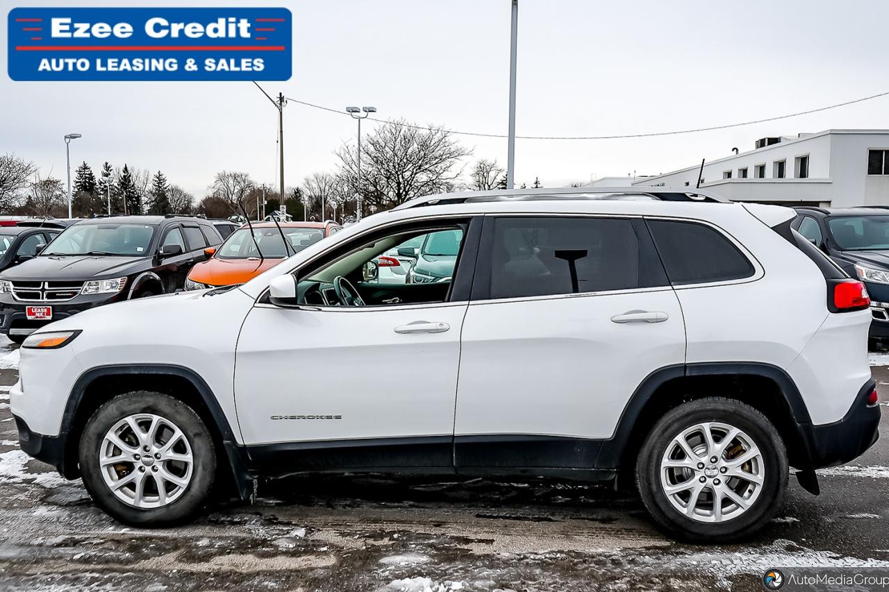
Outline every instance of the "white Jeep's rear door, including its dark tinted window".
<path id="1" fill-rule="evenodd" d="M 641 219 L 489 216 L 463 324 L 457 468 L 593 468 L 685 327 Z"/>

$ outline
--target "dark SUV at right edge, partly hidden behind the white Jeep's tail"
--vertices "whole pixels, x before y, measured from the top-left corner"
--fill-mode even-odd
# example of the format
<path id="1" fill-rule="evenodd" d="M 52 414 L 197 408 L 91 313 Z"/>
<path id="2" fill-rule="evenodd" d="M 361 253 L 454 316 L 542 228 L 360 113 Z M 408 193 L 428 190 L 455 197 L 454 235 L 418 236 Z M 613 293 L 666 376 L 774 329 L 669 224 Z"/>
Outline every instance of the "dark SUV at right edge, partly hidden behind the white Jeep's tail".
<path id="1" fill-rule="evenodd" d="M 870 338 L 889 338 L 889 208 L 796 210 L 791 226 L 867 287 Z"/>

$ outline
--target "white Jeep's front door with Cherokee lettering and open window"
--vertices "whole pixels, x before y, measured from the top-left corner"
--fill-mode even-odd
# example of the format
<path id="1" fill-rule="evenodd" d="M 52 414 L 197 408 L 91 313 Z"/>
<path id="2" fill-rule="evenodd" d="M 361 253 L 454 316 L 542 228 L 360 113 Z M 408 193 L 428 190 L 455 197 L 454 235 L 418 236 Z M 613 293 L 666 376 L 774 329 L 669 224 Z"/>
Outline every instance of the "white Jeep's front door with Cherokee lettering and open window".
<path id="1" fill-rule="evenodd" d="M 453 467 L 468 293 L 452 290 L 456 276 L 395 285 L 396 295 L 369 282 L 381 252 L 442 227 L 466 242 L 462 220 L 359 236 L 295 272 L 299 308 L 260 298 L 238 339 L 235 393 L 264 470 Z"/>

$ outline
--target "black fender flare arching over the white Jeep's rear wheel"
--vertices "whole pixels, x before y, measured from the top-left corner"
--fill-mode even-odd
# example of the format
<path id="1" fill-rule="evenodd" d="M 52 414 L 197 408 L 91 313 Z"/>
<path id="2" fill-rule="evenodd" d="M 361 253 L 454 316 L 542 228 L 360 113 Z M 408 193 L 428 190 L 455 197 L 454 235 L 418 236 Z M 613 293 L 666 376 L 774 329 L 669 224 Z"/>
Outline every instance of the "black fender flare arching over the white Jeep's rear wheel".
<path id="1" fill-rule="evenodd" d="M 619 468 L 621 466 L 621 459 L 637 420 L 658 388 L 661 388 L 669 380 L 677 378 L 719 374 L 759 376 L 773 380 L 778 385 L 790 410 L 791 420 L 801 445 L 800 452 L 803 455 L 801 462 L 811 466 L 812 418 L 805 406 L 803 396 L 800 395 L 797 385 L 787 372 L 773 364 L 759 362 L 703 362 L 664 366 L 645 377 L 624 407 L 613 436 L 603 441 L 596 463 L 597 468 Z"/>

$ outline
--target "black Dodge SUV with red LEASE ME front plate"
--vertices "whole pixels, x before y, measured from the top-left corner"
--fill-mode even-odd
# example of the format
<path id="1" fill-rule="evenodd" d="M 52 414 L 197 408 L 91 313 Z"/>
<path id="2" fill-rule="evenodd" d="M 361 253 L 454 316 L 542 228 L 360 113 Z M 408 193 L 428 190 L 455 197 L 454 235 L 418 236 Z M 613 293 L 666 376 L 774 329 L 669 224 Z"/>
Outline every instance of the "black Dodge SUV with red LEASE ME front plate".
<path id="1" fill-rule="evenodd" d="M 222 243 L 210 220 L 122 216 L 66 228 L 34 259 L 0 274 L 0 332 L 21 342 L 87 308 L 180 290 L 204 249 Z"/>

